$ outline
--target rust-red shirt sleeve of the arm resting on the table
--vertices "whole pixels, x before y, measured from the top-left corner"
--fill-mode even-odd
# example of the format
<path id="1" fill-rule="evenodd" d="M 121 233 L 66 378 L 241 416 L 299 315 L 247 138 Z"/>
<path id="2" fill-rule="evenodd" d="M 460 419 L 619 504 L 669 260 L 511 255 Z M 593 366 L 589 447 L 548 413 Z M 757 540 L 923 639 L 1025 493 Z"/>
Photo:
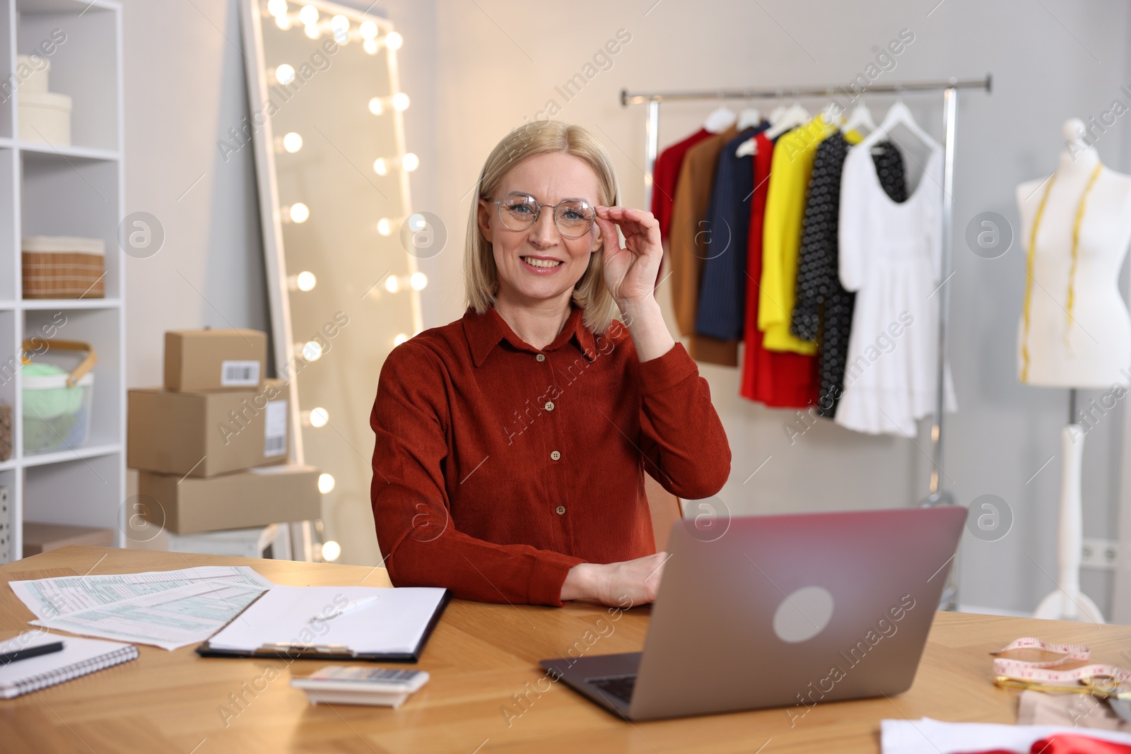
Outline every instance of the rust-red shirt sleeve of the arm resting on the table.
<path id="1" fill-rule="evenodd" d="M 377 435 L 370 493 L 389 579 L 396 587 L 447 587 L 460 599 L 560 607 L 567 573 L 585 561 L 477 539 L 452 522 L 444 382 L 440 357 L 412 341 L 381 369 L 370 417 Z"/>

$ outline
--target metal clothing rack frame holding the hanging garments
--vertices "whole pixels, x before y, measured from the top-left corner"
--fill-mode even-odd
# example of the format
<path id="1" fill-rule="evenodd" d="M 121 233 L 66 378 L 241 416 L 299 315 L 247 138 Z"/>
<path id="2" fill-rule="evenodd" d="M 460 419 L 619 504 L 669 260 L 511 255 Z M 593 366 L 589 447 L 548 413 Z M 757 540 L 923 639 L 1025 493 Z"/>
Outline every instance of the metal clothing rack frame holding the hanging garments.
<path id="1" fill-rule="evenodd" d="M 748 89 L 696 89 L 682 92 L 629 92 L 621 89 L 621 106 L 647 105 L 648 116 L 645 124 L 645 207 L 651 207 L 653 173 L 659 147 L 659 105 L 664 102 L 708 102 L 724 99 L 800 99 L 824 97 L 851 97 L 856 99 L 865 94 L 909 94 L 922 92 L 942 92 L 942 269 L 939 279 L 939 373 L 935 395 L 934 423 L 931 427 L 931 485 L 923 505 L 951 505 L 953 495 L 942 487 L 942 422 L 944 404 L 944 373 L 947 350 L 950 338 L 950 270 L 953 228 L 953 185 L 955 185 L 955 123 L 958 110 L 958 89 L 982 89 L 991 92 L 993 77 L 986 73 L 979 79 L 957 79 L 934 81 L 899 81 L 892 84 L 875 84 L 856 92 L 843 85 L 829 86 L 794 86 L 767 87 Z M 940 608 L 957 608 L 957 580 L 955 567 L 951 567 L 947 589 L 942 596 Z"/>

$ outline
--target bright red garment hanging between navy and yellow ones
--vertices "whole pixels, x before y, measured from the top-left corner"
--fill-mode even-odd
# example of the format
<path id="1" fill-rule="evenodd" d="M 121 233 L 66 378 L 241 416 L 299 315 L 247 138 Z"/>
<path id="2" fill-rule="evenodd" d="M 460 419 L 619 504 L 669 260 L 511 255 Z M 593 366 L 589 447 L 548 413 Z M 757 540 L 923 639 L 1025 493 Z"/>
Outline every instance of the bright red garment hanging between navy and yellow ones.
<path id="1" fill-rule="evenodd" d="M 743 328 L 745 352 L 739 395 L 775 408 L 805 408 L 817 404 L 820 392 L 817 357 L 767 350 L 758 329 L 758 298 L 762 279 L 762 220 L 770 185 L 774 142 L 754 137 L 754 196 L 750 201 L 750 239 L 746 244 L 746 317 Z"/>

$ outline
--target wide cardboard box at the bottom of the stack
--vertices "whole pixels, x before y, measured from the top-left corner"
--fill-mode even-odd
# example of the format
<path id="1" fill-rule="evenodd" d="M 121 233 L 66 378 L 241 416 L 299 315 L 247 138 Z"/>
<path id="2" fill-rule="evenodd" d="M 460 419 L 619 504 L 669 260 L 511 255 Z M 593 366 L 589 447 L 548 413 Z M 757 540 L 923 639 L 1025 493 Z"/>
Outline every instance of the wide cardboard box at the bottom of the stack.
<path id="1" fill-rule="evenodd" d="M 295 463 L 207 479 L 143 471 L 138 512 L 173 534 L 309 521 L 322 515 L 318 474 L 312 466 Z"/>

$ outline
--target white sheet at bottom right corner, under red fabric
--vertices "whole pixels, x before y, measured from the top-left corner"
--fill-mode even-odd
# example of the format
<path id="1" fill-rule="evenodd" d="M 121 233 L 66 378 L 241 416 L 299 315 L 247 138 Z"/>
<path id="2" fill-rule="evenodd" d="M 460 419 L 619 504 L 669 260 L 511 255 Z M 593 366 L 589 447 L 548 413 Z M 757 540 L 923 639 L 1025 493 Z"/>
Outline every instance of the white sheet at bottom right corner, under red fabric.
<path id="1" fill-rule="evenodd" d="M 1057 734 L 1091 736 L 1120 744 L 1131 744 L 1131 734 L 1096 728 L 1064 726 L 1009 726 L 992 722 L 942 722 L 921 720 L 881 720 L 883 754 L 960 754 L 1002 749 L 1029 754 L 1035 742 Z"/>

